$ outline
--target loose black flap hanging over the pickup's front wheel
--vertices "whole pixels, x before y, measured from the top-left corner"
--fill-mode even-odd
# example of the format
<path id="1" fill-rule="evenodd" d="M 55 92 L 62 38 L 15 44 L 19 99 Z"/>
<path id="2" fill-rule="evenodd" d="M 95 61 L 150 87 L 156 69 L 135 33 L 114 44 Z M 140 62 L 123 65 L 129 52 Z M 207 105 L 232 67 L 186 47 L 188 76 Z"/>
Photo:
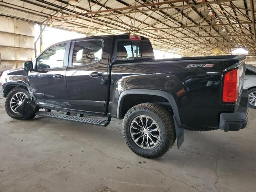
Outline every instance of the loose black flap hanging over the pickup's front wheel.
<path id="1" fill-rule="evenodd" d="M 36 104 L 34 104 L 33 100 L 24 99 L 22 104 L 16 108 L 16 112 L 24 117 L 29 117 L 36 112 Z"/>

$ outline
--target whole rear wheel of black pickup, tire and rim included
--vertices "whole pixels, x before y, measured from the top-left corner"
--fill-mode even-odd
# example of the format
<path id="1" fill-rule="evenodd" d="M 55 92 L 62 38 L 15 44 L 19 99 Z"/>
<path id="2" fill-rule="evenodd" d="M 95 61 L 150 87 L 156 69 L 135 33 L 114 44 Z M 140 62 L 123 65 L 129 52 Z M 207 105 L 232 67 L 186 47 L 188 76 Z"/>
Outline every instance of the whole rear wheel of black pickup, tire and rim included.
<path id="1" fill-rule="evenodd" d="M 128 110 L 122 130 L 132 152 L 145 158 L 164 155 L 176 140 L 170 112 L 154 103 L 138 104 Z"/>

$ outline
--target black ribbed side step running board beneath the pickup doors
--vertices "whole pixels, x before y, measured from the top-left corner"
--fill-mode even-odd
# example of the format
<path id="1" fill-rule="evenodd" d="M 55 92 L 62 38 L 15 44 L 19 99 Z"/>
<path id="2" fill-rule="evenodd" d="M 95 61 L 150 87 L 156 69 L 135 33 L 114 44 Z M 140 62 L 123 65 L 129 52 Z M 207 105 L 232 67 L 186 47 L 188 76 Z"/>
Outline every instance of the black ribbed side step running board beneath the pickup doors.
<path id="1" fill-rule="evenodd" d="M 91 125 L 98 125 L 103 127 L 106 127 L 109 124 L 109 121 L 105 119 L 103 120 L 91 119 L 86 117 L 78 117 L 78 116 L 72 116 L 72 115 L 66 115 L 66 114 L 60 114 L 60 113 L 54 113 L 54 112 L 46 112 L 46 111 L 38 111 L 36 112 L 36 115 L 51 117 L 51 118 L 61 119 L 61 120 L 68 120 L 73 122 L 79 122 L 79 123 L 85 123 L 85 124 L 91 124 Z"/>

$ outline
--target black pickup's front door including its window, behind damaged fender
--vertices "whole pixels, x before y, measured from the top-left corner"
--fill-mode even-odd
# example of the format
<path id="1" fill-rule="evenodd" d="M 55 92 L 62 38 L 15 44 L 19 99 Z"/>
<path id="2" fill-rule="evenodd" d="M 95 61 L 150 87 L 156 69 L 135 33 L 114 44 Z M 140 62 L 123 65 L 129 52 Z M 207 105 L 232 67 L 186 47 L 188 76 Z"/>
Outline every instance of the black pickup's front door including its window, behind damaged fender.
<path id="1" fill-rule="evenodd" d="M 30 86 L 39 106 L 70 108 L 66 88 L 69 46 L 67 42 L 48 48 L 36 59 L 35 69 L 29 72 Z"/>

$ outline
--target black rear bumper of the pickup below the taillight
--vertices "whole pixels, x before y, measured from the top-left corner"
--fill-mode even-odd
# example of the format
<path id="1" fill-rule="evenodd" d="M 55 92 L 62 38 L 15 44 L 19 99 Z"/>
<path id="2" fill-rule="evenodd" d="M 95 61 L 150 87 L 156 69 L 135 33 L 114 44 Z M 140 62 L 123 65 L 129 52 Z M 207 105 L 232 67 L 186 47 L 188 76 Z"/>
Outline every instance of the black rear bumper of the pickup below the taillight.
<path id="1" fill-rule="evenodd" d="M 246 127 L 248 122 L 248 99 L 248 91 L 244 89 L 236 112 L 220 114 L 219 128 L 221 130 L 239 131 Z"/>

